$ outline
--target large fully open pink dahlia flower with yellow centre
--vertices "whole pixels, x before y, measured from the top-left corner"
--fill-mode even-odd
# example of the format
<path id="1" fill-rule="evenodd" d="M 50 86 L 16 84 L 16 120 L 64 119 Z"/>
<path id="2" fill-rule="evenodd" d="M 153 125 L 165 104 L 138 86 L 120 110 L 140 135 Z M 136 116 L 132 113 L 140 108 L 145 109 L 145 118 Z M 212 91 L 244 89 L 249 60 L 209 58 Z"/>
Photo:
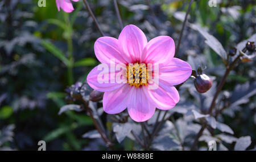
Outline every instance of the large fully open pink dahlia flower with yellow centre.
<path id="1" fill-rule="evenodd" d="M 94 52 L 101 64 L 90 71 L 87 82 L 93 89 L 105 92 L 104 111 L 117 114 L 127 108 L 130 117 L 137 122 L 151 118 L 156 108 L 161 110 L 173 108 L 180 99 L 174 86 L 185 82 L 192 73 L 191 66 L 187 62 L 174 58 L 175 44 L 171 37 L 159 36 L 147 42 L 144 33 L 135 25 L 127 25 L 123 28 L 118 39 L 100 37 L 94 44 Z M 103 64 L 110 65 L 110 60 L 113 59 L 115 63 L 125 65 L 125 69 L 126 67 L 128 69 L 129 63 L 137 66 L 151 63 L 152 69 L 158 65 L 158 88 L 149 88 L 150 84 L 154 84 L 148 83 L 149 80 L 142 83 L 143 73 L 138 73 L 137 83 L 113 82 L 111 75 L 117 76 L 122 71 L 113 71 L 113 67 L 110 67 L 106 73 L 106 76 L 109 76 L 106 77 L 109 83 L 99 83 L 98 76 L 102 74 L 102 70 L 98 69 L 101 69 Z M 128 73 L 125 70 L 122 74 L 127 77 Z M 132 78 L 133 74 L 134 71 L 131 71 Z"/>

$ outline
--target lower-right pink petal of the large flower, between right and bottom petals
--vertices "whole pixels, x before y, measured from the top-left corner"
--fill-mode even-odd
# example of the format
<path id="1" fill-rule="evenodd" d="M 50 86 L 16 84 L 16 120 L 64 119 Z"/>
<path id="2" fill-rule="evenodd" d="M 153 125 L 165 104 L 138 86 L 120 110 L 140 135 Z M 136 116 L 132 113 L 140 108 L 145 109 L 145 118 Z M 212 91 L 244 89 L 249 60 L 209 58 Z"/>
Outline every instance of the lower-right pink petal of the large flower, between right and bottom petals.
<path id="1" fill-rule="evenodd" d="M 155 105 L 156 108 L 161 110 L 168 110 L 173 108 L 180 100 L 177 89 L 168 83 L 159 83 L 157 89 L 144 89 L 147 95 L 147 99 L 151 104 Z"/>

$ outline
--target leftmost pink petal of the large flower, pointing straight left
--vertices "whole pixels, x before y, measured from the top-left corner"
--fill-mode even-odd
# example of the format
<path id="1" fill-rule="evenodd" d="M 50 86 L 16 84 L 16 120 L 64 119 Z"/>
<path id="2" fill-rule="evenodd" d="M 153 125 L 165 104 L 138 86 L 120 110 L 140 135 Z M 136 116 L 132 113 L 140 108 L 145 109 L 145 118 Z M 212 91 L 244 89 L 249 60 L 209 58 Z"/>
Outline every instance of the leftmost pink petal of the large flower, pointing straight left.
<path id="1" fill-rule="evenodd" d="M 102 64 L 101 64 L 102 65 Z M 98 65 L 100 66 L 100 65 Z M 87 76 L 87 82 L 89 84 L 90 87 L 92 87 L 93 89 L 96 89 L 97 91 L 101 91 L 101 92 L 109 92 L 109 91 L 114 91 L 115 89 L 122 87 L 125 83 L 117 83 L 115 80 L 115 75 L 117 75 L 117 73 L 119 73 L 120 71 L 115 70 L 114 72 L 110 73 L 110 71 L 113 71 L 113 69 L 110 69 L 110 65 L 108 65 L 109 70 L 108 71 L 103 71 L 102 70 L 98 70 L 98 66 L 94 67 L 92 71 L 90 71 L 90 73 Z M 98 82 L 98 76 L 102 74 L 108 74 L 108 83 L 99 83 Z M 110 75 L 113 74 L 114 78 L 111 78 Z M 104 79 L 104 76 L 102 76 L 102 79 Z M 114 83 L 112 83 L 114 82 Z"/>

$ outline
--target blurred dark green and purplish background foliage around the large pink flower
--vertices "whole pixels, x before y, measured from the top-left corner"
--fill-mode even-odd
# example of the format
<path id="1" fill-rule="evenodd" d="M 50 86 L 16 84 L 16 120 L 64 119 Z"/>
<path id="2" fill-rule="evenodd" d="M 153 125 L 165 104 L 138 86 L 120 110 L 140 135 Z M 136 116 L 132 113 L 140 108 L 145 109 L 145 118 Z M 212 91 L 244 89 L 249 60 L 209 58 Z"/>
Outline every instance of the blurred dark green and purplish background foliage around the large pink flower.
<path id="1" fill-rule="evenodd" d="M 46 140 L 47 150 L 106 150 L 94 131 L 91 118 L 84 111 L 69 110 L 58 115 L 61 106 L 65 105 L 64 89 L 75 82 L 85 82 L 86 75 L 98 64 L 93 44 L 100 33 L 82 2 L 73 3 L 75 11 L 71 14 L 58 12 L 55 1 L 47 0 L 47 7 L 38 7 L 37 2 L 0 2 L 0 150 L 37 150 L 39 140 Z M 89 3 L 104 33 L 118 37 L 121 29 L 113 1 Z M 149 7 L 142 0 L 119 0 L 123 23 L 137 25 L 148 40 L 168 35 L 177 44 L 189 1 L 155 0 L 150 3 Z M 193 3 L 188 22 L 208 29 L 228 53 L 230 48 L 255 33 L 255 11 L 253 0 L 222 0 L 217 7 L 209 7 L 208 1 L 201 0 Z M 160 131 L 162 136 L 158 136 L 152 146 L 156 150 L 179 150 L 180 143 L 191 144 L 200 129 L 200 118 L 195 112 L 209 107 L 216 83 L 225 72 L 225 65 L 216 50 L 210 49 L 205 44 L 205 36 L 190 25 L 185 27 L 179 57 L 187 60 L 193 69 L 199 65 L 207 66 L 205 73 L 214 80 L 213 87 L 203 95 L 196 92 L 192 79 L 180 87 L 180 103 L 169 114 L 174 121 L 164 123 Z M 200 150 L 207 148 L 205 142 L 210 139 L 218 142 L 219 150 L 254 148 L 255 68 L 253 60 L 240 63 L 230 73 L 220 100 L 228 94 L 233 105 L 216 118 L 214 133 L 217 135 L 207 132 L 202 136 Z M 101 103 L 98 105 L 101 107 Z M 156 114 L 148 125 L 155 122 Z M 116 133 L 112 135 L 116 149 L 139 149 L 129 131 L 126 134 L 119 132 L 121 123 L 109 120 L 111 116 L 105 113 L 101 118 L 108 131 Z M 128 130 L 138 127 L 133 122 L 126 126 Z M 138 135 L 140 132 L 138 127 Z M 168 146 L 167 140 L 170 141 Z"/>

